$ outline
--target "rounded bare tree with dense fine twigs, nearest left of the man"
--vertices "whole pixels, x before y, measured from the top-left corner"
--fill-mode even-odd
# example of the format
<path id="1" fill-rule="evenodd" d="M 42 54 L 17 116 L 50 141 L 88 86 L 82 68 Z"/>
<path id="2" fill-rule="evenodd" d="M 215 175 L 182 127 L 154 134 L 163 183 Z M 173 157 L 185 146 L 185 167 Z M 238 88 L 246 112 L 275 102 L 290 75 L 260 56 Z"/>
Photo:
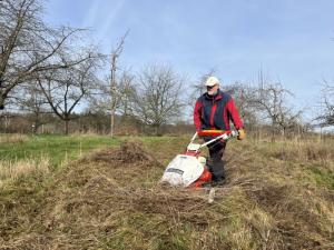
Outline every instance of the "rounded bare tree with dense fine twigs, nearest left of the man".
<path id="1" fill-rule="evenodd" d="M 161 124 L 177 119 L 183 106 L 179 97 L 183 80 L 170 67 L 151 66 L 138 79 L 135 113 L 159 134 Z"/>

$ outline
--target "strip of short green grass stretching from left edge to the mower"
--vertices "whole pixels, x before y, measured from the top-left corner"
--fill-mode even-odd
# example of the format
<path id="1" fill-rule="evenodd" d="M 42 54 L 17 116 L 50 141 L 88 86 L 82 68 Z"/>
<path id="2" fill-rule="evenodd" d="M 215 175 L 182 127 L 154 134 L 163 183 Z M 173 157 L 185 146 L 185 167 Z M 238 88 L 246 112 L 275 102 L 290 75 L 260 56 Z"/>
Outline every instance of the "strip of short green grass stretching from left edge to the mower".
<path id="1" fill-rule="evenodd" d="M 17 136 L 17 134 L 16 134 Z M 0 134 L 0 139 L 10 138 L 10 134 Z M 115 137 L 108 136 L 58 136 L 40 134 L 29 136 L 23 140 L 13 142 L 1 142 L 0 140 L 0 160 L 18 161 L 22 159 L 39 159 L 41 156 L 48 157 L 53 168 L 58 168 L 63 161 L 78 159 L 85 153 L 105 147 L 118 146 L 122 140 L 141 140 L 150 149 L 160 149 L 161 146 L 175 144 L 184 149 L 187 140 L 177 137 Z M 175 152 L 173 152 L 174 154 Z M 168 154 L 168 153 L 167 153 Z M 170 152 L 169 152 L 169 156 Z"/>

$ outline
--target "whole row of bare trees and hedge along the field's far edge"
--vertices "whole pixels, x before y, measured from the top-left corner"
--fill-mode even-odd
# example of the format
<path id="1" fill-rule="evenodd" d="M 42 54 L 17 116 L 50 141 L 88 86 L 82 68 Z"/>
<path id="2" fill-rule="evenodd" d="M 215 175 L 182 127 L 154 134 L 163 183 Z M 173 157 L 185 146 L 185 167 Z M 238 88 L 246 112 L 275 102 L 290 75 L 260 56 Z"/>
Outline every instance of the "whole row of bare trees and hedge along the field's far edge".
<path id="1" fill-rule="evenodd" d="M 119 64 L 129 32 L 104 54 L 86 29 L 51 27 L 43 1 L 0 1 L 0 132 L 114 134 L 184 133 L 194 130 L 196 99 L 214 70 L 197 80 L 165 63 L 134 71 Z M 312 126 L 281 82 L 226 84 L 248 131 L 302 134 Z M 286 84 L 285 84 L 286 86 Z M 313 126 L 334 124 L 334 87 L 324 82 Z M 86 107 L 85 109 L 82 107 Z M 191 123 L 191 122 L 188 122 Z"/>

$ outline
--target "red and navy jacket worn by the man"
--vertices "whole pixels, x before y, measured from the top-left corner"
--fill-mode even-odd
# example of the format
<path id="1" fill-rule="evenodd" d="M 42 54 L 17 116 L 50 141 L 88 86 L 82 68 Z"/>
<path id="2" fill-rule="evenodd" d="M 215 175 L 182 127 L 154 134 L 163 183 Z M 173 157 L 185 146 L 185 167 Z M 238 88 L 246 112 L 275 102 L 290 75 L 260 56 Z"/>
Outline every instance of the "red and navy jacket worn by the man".
<path id="1" fill-rule="evenodd" d="M 204 129 L 230 130 L 230 120 L 237 130 L 243 128 L 238 110 L 228 93 L 218 90 L 214 97 L 204 93 L 197 99 L 194 109 L 196 131 Z"/>

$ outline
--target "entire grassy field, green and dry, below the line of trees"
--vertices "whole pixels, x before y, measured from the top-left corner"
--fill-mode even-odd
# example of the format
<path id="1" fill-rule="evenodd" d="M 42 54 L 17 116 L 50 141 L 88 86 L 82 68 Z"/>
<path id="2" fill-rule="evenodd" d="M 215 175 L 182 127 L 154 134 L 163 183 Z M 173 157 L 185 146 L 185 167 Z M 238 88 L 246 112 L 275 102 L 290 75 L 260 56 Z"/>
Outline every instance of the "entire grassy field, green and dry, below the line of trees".
<path id="1" fill-rule="evenodd" d="M 334 140 L 230 141 L 227 182 L 160 187 L 188 137 L 0 136 L 0 249 L 333 249 Z"/>

